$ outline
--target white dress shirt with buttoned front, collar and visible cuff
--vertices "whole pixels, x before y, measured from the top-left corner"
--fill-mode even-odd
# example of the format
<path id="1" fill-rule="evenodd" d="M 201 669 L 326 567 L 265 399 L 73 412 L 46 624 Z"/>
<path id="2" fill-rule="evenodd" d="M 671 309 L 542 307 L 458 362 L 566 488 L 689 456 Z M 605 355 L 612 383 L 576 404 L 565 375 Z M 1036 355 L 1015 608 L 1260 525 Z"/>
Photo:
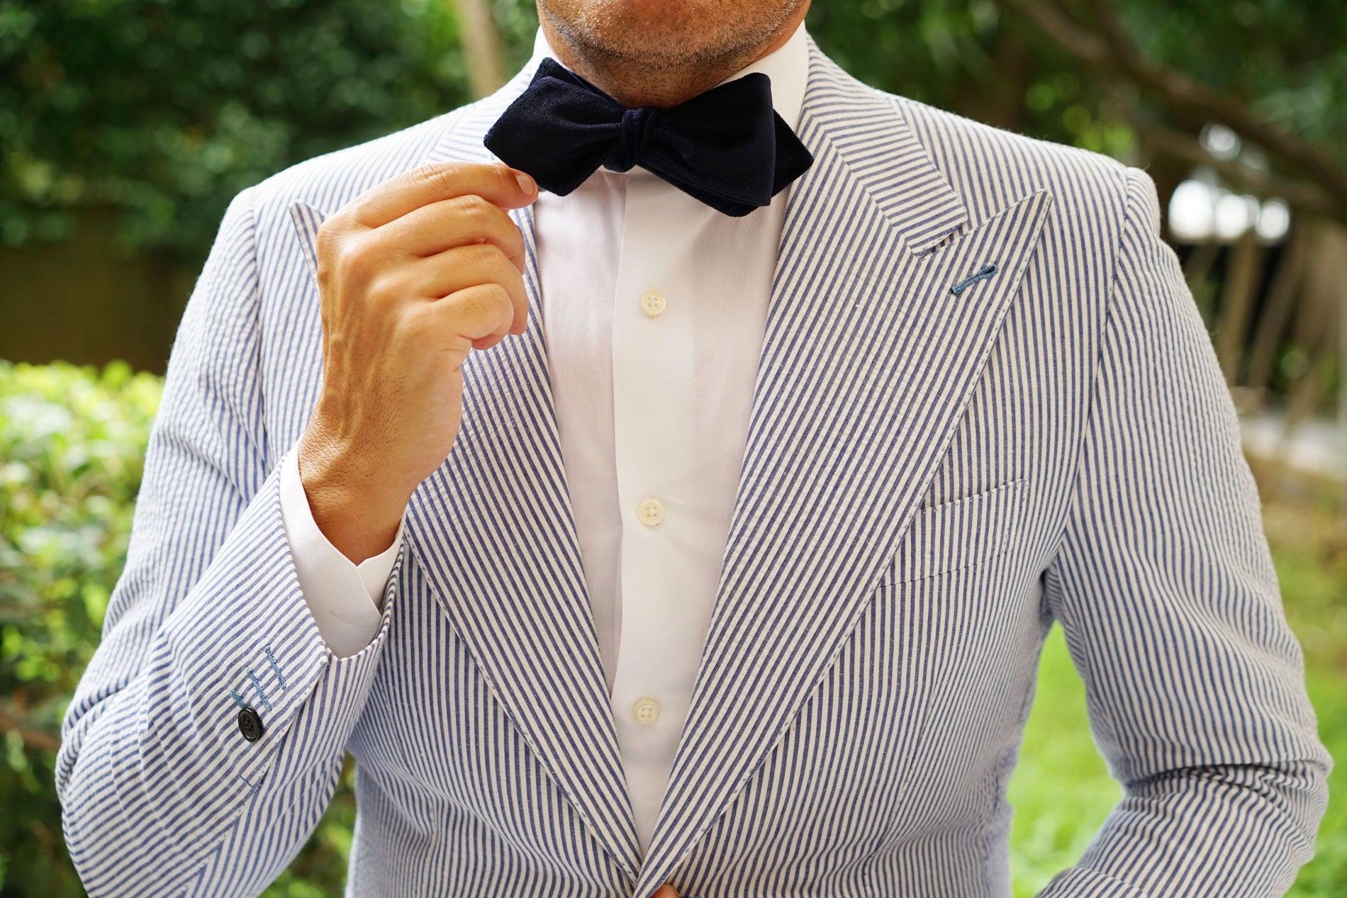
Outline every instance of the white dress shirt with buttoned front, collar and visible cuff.
<path id="1" fill-rule="evenodd" d="M 527 67 L 544 57 L 539 30 Z M 801 24 L 726 81 L 766 74 L 795 128 L 807 67 Z M 733 218 L 644 168 L 601 167 L 533 205 L 562 458 L 643 852 L 710 629 L 788 195 Z M 282 517 L 319 633 L 354 654 L 379 631 L 405 514 L 385 552 L 352 563 L 314 524 L 291 448 Z"/>

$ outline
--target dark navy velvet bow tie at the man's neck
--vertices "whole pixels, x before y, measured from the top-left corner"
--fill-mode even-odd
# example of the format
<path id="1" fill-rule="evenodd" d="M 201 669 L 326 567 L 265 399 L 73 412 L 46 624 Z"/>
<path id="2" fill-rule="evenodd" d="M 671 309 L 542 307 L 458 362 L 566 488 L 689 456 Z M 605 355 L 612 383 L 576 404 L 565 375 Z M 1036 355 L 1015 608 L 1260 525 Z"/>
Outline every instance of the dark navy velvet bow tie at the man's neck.
<path id="1" fill-rule="evenodd" d="M 754 71 L 669 109 L 624 109 L 555 59 L 482 139 L 501 162 L 566 195 L 599 166 L 648 168 L 726 215 L 746 215 L 804 174 L 814 156 L 772 109 Z"/>

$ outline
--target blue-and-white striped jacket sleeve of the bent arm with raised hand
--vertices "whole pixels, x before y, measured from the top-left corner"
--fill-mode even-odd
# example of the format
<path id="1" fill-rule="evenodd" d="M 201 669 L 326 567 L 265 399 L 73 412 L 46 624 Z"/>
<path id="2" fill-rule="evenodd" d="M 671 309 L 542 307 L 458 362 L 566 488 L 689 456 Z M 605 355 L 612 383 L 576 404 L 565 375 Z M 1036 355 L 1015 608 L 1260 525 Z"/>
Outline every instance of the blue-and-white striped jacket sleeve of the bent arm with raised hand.
<path id="1" fill-rule="evenodd" d="M 379 633 L 346 658 L 295 574 L 263 424 L 252 193 L 183 312 L 127 565 L 62 724 L 63 831 L 96 898 L 263 891 L 331 798 L 387 642 L 401 551 Z"/>

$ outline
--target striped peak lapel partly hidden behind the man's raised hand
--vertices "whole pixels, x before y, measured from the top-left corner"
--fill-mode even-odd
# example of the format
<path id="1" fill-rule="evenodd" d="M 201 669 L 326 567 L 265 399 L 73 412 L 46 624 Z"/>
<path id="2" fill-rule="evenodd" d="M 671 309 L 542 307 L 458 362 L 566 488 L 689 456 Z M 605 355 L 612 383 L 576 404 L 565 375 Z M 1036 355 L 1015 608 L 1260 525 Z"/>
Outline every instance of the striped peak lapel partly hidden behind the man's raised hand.
<path id="1" fill-rule="evenodd" d="M 527 74 L 470 109 L 426 162 L 496 162 L 481 135 Z M 556 788 L 634 880 L 640 845 L 562 463 L 532 209 L 511 215 L 528 257 L 528 330 L 463 364 L 462 425 L 412 495 L 408 555 Z M 323 213 L 296 201 L 291 217 L 314 273 Z"/>

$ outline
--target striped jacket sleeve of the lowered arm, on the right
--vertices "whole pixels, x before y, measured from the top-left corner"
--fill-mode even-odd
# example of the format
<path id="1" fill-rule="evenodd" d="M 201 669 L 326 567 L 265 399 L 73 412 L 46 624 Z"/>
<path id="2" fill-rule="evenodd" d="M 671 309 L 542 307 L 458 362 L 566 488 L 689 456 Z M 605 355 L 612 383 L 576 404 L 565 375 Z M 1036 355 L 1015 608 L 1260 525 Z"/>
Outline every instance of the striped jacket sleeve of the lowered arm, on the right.
<path id="1" fill-rule="evenodd" d="M 1281 895 L 1332 761 L 1215 351 L 1126 171 L 1117 277 L 1045 600 L 1123 797 L 1040 898 Z"/>

